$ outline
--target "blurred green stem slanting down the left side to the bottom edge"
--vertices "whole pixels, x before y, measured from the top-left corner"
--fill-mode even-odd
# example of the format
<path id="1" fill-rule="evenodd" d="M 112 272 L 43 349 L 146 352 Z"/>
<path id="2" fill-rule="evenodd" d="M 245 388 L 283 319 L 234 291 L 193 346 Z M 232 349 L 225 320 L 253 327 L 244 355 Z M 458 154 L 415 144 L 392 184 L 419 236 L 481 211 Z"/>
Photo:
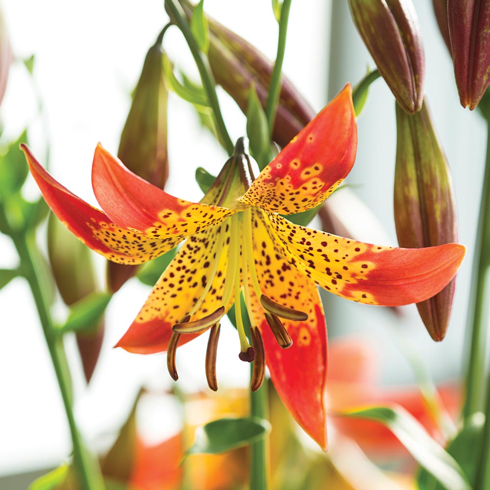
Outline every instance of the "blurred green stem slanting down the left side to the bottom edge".
<path id="1" fill-rule="evenodd" d="M 98 465 L 91 461 L 88 453 L 83 449 L 82 440 L 76 427 L 72 410 L 72 383 L 66 359 L 63 339 L 58 335 L 49 313 L 48 301 L 43 289 L 43 277 L 39 265 L 40 252 L 35 244 L 34 235 L 27 235 L 24 231 L 13 230 L 8 222 L 5 209 L 0 205 L 0 226 L 12 238 L 19 258 L 24 276 L 29 283 L 32 296 L 36 303 L 43 333 L 48 344 L 49 355 L 58 381 L 61 398 L 65 407 L 68 425 L 73 442 L 73 462 L 78 474 L 80 488 L 84 490 L 104 489 L 103 479 Z"/>

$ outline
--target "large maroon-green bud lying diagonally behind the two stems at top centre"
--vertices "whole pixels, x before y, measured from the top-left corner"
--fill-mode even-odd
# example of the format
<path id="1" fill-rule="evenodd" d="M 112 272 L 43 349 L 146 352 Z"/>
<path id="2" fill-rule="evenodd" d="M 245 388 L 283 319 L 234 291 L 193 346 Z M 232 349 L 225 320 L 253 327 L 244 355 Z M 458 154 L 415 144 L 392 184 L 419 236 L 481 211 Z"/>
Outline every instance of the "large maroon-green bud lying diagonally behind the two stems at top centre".
<path id="1" fill-rule="evenodd" d="M 194 5 L 179 0 L 186 15 L 192 17 Z M 216 82 L 237 102 L 246 114 L 248 92 L 252 82 L 263 107 L 266 105 L 270 77 L 274 64 L 245 39 L 214 19 L 209 23 L 209 64 Z M 285 147 L 316 115 L 305 99 L 285 76 L 281 78 L 281 93 L 272 132 L 272 139 Z"/>

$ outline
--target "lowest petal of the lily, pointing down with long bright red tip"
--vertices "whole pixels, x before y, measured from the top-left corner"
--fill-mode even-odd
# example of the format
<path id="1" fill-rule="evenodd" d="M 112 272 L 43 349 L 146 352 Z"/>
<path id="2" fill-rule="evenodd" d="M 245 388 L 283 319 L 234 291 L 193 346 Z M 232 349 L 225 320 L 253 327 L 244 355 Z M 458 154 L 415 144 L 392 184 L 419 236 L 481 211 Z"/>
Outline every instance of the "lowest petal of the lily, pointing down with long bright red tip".
<path id="1" fill-rule="evenodd" d="M 282 319 L 293 345 L 282 349 L 264 318 L 264 308 L 251 295 L 254 323 L 264 339 L 266 363 L 282 401 L 301 427 L 326 448 L 325 382 L 327 331 L 325 317 L 313 281 L 289 264 L 268 229 L 267 215 L 253 213 L 254 258 L 261 290 L 273 301 L 308 314 L 305 321 Z"/>

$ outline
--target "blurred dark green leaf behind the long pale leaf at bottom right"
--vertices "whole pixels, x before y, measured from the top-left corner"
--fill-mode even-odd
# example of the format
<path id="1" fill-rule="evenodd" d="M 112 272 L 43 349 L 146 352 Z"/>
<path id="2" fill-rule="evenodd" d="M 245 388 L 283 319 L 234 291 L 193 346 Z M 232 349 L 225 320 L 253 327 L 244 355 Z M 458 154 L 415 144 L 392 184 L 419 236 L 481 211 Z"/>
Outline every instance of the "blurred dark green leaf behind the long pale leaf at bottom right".
<path id="1" fill-rule="evenodd" d="M 483 445 L 485 416 L 473 414 L 467 426 L 449 443 L 447 452 L 459 463 L 468 481 L 476 484 L 478 458 Z M 425 469 L 421 468 L 417 475 L 419 490 L 444 490 L 444 487 Z"/>

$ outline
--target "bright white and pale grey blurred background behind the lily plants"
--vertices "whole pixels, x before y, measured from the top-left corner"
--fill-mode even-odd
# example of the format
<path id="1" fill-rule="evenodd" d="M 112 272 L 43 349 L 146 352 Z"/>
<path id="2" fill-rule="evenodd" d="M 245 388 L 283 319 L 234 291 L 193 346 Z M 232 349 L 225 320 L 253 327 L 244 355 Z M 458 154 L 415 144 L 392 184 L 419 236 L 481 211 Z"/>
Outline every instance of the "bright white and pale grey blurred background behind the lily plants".
<path id="1" fill-rule="evenodd" d="M 468 247 L 468 252 L 458 275 L 451 324 L 442 343 L 430 339 L 413 305 L 395 315 L 389 309 L 323 294 L 329 339 L 354 333 L 367 335 L 380 345 L 382 381 L 386 385 L 414 382 L 413 371 L 403 355 L 407 348 L 420 356 L 437 382 L 455 379 L 464 369 L 469 277 L 483 178 L 484 125 L 478 114 L 459 104 L 452 63 L 432 2 L 414 3 L 424 39 L 426 95 L 453 172 L 460 242 Z M 130 94 L 146 51 L 168 21 L 163 1 L 16 0 L 3 1 L 0 6 L 19 60 L 11 69 L 0 110 L 1 139 L 17 139 L 27 125 L 35 154 L 44 155 L 49 141 L 49 170 L 55 178 L 96 205 L 90 186 L 93 152 L 99 141 L 111 152 L 117 152 Z M 270 2 L 207 0 L 204 7 L 211 16 L 274 58 L 277 24 Z M 176 66 L 197 79 L 193 60 L 177 29 L 170 29 L 164 46 Z M 20 61 L 32 54 L 33 79 Z M 345 83 L 357 83 L 368 67 L 373 68 L 374 63 L 352 24 L 346 2 L 293 2 L 283 70 L 316 110 Z M 226 94 L 220 91 L 219 95 L 225 122 L 232 139 L 236 139 L 245 133 L 245 117 Z M 38 98 L 43 104 L 41 113 Z M 394 103 L 384 81 L 376 81 L 358 121 L 357 160 L 347 180 L 384 228 L 382 233 L 375 227 L 363 229 L 363 222 L 353 224 L 359 230 L 355 238 L 383 245 L 397 244 L 392 212 Z M 200 127 L 194 109 L 173 93 L 169 97 L 168 121 L 170 178 L 166 191 L 198 200 L 202 193 L 191 178 L 196 167 L 203 166 L 216 174 L 226 155 Z M 36 195 L 32 181 L 26 192 Z M 356 218 L 355 213 L 350 214 Z M 0 236 L 0 250 L 0 268 L 14 267 L 15 250 L 4 236 Z M 95 260 L 102 286 L 105 263 L 100 257 Z M 148 287 L 132 279 L 111 301 L 101 358 L 88 388 L 74 339 L 67 339 L 75 380 L 75 415 L 86 438 L 96 446 L 101 435 L 118 429 L 142 384 L 171 386 L 165 354 L 140 356 L 112 349 L 148 293 Z M 57 308 L 61 318 L 65 307 L 58 301 Z M 1 290 L 0 312 L 1 478 L 56 466 L 69 454 L 70 439 L 48 350 L 22 279 L 15 279 Z M 179 349 L 178 383 L 183 390 L 207 390 L 206 337 Z M 217 365 L 220 387 L 248 383 L 248 367 L 236 355 L 237 342 L 231 327 L 222 328 Z M 158 439 L 179 431 L 181 417 L 172 403 L 164 400 L 158 410 L 151 411 L 156 417 L 144 420 L 148 438 Z"/>

